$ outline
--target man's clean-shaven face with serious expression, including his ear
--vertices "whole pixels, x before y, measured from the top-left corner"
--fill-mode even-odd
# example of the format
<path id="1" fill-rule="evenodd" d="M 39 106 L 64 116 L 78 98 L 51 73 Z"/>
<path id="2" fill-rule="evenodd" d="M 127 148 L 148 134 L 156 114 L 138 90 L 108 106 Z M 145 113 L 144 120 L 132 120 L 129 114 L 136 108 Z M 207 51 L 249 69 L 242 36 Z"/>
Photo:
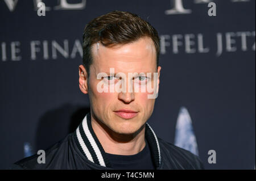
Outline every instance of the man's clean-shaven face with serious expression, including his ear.
<path id="1" fill-rule="evenodd" d="M 137 132 L 149 119 L 153 110 L 155 99 L 148 99 L 149 93 L 141 91 L 143 81 L 146 84 L 154 85 L 154 73 L 158 72 L 156 87 L 159 86 L 160 66 L 156 69 L 156 50 L 153 41 L 149 37 L 143 37 L 134 43 L 121 45 L 120 47 L 107 48 L 103 45 L 94 44 L 92 46 L 93 63 L 90 66 L 90 76 L 85 75 L 85 81 L 80 76 L 80 89 L 85 94 L 89 94 L 90 108 L 97 120 L 104 123 L 115 133 L 132 134 Z M 125 92 L 100 92 L 97 89 L 98 83 L 103 81 L 110 90 L 111 81 L 115 77 L 105 77 L 97 79 L 99 73 L 106 73 L 110 76 L 110 68 L 114 68 L 114 73 L 124 73 L 126 75 Z M 80 65 L 81 71 L 86 71 L 84 66 Z M 131 77 L 128 73 L 151 73 L 151 79 Z M 119 79 L 114 80 L 114 84 Z M 128 83 L 133 83 L 133 91 L 129 92 Z M 89 89 L 86 85 L 89 83 Z M 134 91 L 137 84 L 139 91 Z M 118 112 L 118 110 L 131 110 L 136 113 Z"/>

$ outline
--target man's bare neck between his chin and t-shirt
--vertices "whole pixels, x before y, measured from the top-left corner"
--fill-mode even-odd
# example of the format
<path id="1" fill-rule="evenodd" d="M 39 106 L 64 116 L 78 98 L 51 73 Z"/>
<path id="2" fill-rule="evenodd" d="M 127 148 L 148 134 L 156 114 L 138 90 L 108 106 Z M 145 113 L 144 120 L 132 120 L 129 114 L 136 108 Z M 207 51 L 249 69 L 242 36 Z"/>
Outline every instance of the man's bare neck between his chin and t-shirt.
<path id="1" fill-rule="evenodd" d="M 96 120 L 92 115 L 92 128 L 106 153 L 117 155 L 133 155 L 139 153 L 145 142 L 145 125 L 133 134 L 119 134 L 113 132 L 104 123 Z"/>

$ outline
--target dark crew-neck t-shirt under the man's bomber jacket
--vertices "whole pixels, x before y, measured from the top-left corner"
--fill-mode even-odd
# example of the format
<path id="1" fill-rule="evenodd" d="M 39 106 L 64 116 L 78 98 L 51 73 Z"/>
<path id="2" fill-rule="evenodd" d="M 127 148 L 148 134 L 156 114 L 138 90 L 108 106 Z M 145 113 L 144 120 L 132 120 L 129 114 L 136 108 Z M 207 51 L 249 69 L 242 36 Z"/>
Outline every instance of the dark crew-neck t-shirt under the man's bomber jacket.
<path id="1" fill-rule="evenodd" d="M 150 148 L 146 140 L 143 150 L 134 155 L 116 155 L 106 153 L 113 169 L 155 169 Z"/>

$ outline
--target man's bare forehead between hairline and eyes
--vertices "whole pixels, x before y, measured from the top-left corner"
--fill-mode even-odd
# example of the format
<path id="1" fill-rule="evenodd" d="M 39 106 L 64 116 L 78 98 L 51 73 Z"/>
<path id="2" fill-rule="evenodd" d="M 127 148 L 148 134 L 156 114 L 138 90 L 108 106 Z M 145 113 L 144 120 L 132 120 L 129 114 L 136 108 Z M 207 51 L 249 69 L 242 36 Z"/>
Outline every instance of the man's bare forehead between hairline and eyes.
<path id="1" fill-rule="evenodd" d="M 108 72 L 154 72 L 156 50 L 150 37 L 143 37 L 133 43 L 109 48 L 101 43 L 92 46 L 92 68 L 96 73 Z"/>

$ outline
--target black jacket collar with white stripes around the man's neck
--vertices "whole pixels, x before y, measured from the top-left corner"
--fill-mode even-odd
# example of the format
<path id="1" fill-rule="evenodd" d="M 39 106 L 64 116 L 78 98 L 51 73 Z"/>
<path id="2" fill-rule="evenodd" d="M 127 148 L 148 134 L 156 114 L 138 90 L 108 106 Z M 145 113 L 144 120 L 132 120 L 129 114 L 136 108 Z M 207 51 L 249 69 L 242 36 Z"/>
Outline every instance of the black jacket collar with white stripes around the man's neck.
<path id="1" fill-rule="evenodd" d="M 148 141 L 153 162 L 156 168 L 158 168 L 161 163 L 159 142 L 155 132 L 148 123 L 146 123 L 145 138 Z M 79 127 L 77 127 L 75 141 L 81 153 L 84 154 L 89 161 L 100 166 L 111 167 L 109 159 L 92 129 L 90 113 L 86 114 Z"/>

